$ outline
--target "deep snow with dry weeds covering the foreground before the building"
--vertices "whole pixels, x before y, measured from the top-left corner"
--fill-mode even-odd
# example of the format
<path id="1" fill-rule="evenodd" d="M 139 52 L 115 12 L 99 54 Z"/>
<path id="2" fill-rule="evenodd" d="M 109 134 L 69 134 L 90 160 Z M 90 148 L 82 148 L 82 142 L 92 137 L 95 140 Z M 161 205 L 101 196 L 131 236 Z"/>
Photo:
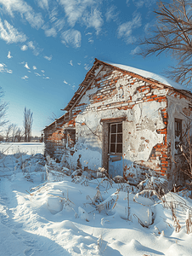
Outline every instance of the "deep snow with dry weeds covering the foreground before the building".
<path id="1" fill-rule="evenodd" d="M 41 154 L 1 155 L 0 255 L 192 255 L 189 193 L 163 202 L 101 176 Z"/>

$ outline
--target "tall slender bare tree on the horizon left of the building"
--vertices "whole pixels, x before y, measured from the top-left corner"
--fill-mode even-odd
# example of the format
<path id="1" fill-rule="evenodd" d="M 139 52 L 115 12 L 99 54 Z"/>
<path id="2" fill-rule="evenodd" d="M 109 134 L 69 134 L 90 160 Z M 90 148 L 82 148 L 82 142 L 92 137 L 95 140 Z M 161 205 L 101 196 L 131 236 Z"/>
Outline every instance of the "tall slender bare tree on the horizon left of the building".
<path id="1" fill-rule="evenodd" d="M 24 111 L 24 135 L 25 135 L 25 142 L 30 142 L 31 141 L 31 129 L 32 129 L 32 122 L 33 122 L 33 117 L 32 117 L 31 109 L 27 109 L 25 107 Z"/>

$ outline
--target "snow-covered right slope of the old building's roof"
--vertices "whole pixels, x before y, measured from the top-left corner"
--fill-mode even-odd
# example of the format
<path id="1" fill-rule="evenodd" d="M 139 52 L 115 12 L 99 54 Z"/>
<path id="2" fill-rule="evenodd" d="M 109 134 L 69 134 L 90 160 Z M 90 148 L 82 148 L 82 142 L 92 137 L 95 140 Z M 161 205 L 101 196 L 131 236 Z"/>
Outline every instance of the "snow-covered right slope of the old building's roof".
<path id="1" fill-rule="evenodd" d="M 131 72 L 131 73 L 138 74 L 138 75 L 144 77 L 145 79 L 154 79 L 154 80 L 160 82 L 161 84 L 166 84 L 166 85 L 171 86 L 172 88 L 175 88 L 177 90 L 188 90 L 188 91 L 191 92 L 191 90 L 189 90 L 189 88 L 186 88 L 186 87 L 172 81 L 171 79 L 167 79 L 167 78 L 165 78 L 161 75 L 151 73 L 151 72 L 145 71 L 143 69 L 139 69 L 139 68 L 135 68 L 135 67 L 129 67 L 129 66 L 126 66 L 126 65 L 114 64 L 114 63 L 107 62 L 107 61 L 104 61 L 104 63 L 110 64 L 111 66 L 114 66 L 114 67 L 121 68 L 121 69 L 126 70 L 126 71 Z"/>

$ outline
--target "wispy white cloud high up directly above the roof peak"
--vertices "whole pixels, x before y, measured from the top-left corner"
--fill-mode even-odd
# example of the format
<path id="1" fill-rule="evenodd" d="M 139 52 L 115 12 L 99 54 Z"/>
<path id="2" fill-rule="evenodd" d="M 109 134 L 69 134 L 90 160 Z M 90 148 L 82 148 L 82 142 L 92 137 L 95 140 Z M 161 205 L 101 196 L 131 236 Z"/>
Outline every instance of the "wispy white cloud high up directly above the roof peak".
<path id="1" fill-rule="evenodd" d="M 96 30 L 96 34 L 99 34 L 101 26 L 103 25 L 103 19 L 98 9 L 93 9 L 91 14 L 86 13 L 83 15 L 82 20 L 87 27 L 93 27 Z"/>

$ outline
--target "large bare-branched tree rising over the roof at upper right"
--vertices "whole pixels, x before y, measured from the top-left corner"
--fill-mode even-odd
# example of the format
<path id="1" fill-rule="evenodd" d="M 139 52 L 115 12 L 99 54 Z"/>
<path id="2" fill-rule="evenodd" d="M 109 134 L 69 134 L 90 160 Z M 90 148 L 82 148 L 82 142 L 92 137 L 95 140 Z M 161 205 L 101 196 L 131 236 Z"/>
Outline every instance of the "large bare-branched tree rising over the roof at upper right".
<path id="1" fill-rule="evenodd" d="M 168 77 L 189 84 L 192 78 L 192 2 L 190 0 L 171 0 L 171 3 L 158 2 L 154 11 L 156 24 L 148 37 L 141 40 L 145 45 L 140 52 L 147 55 L 172 55 L 177 67 L 170 67 Z M 170 72 L 171 71 L 171 72 Z"/>

